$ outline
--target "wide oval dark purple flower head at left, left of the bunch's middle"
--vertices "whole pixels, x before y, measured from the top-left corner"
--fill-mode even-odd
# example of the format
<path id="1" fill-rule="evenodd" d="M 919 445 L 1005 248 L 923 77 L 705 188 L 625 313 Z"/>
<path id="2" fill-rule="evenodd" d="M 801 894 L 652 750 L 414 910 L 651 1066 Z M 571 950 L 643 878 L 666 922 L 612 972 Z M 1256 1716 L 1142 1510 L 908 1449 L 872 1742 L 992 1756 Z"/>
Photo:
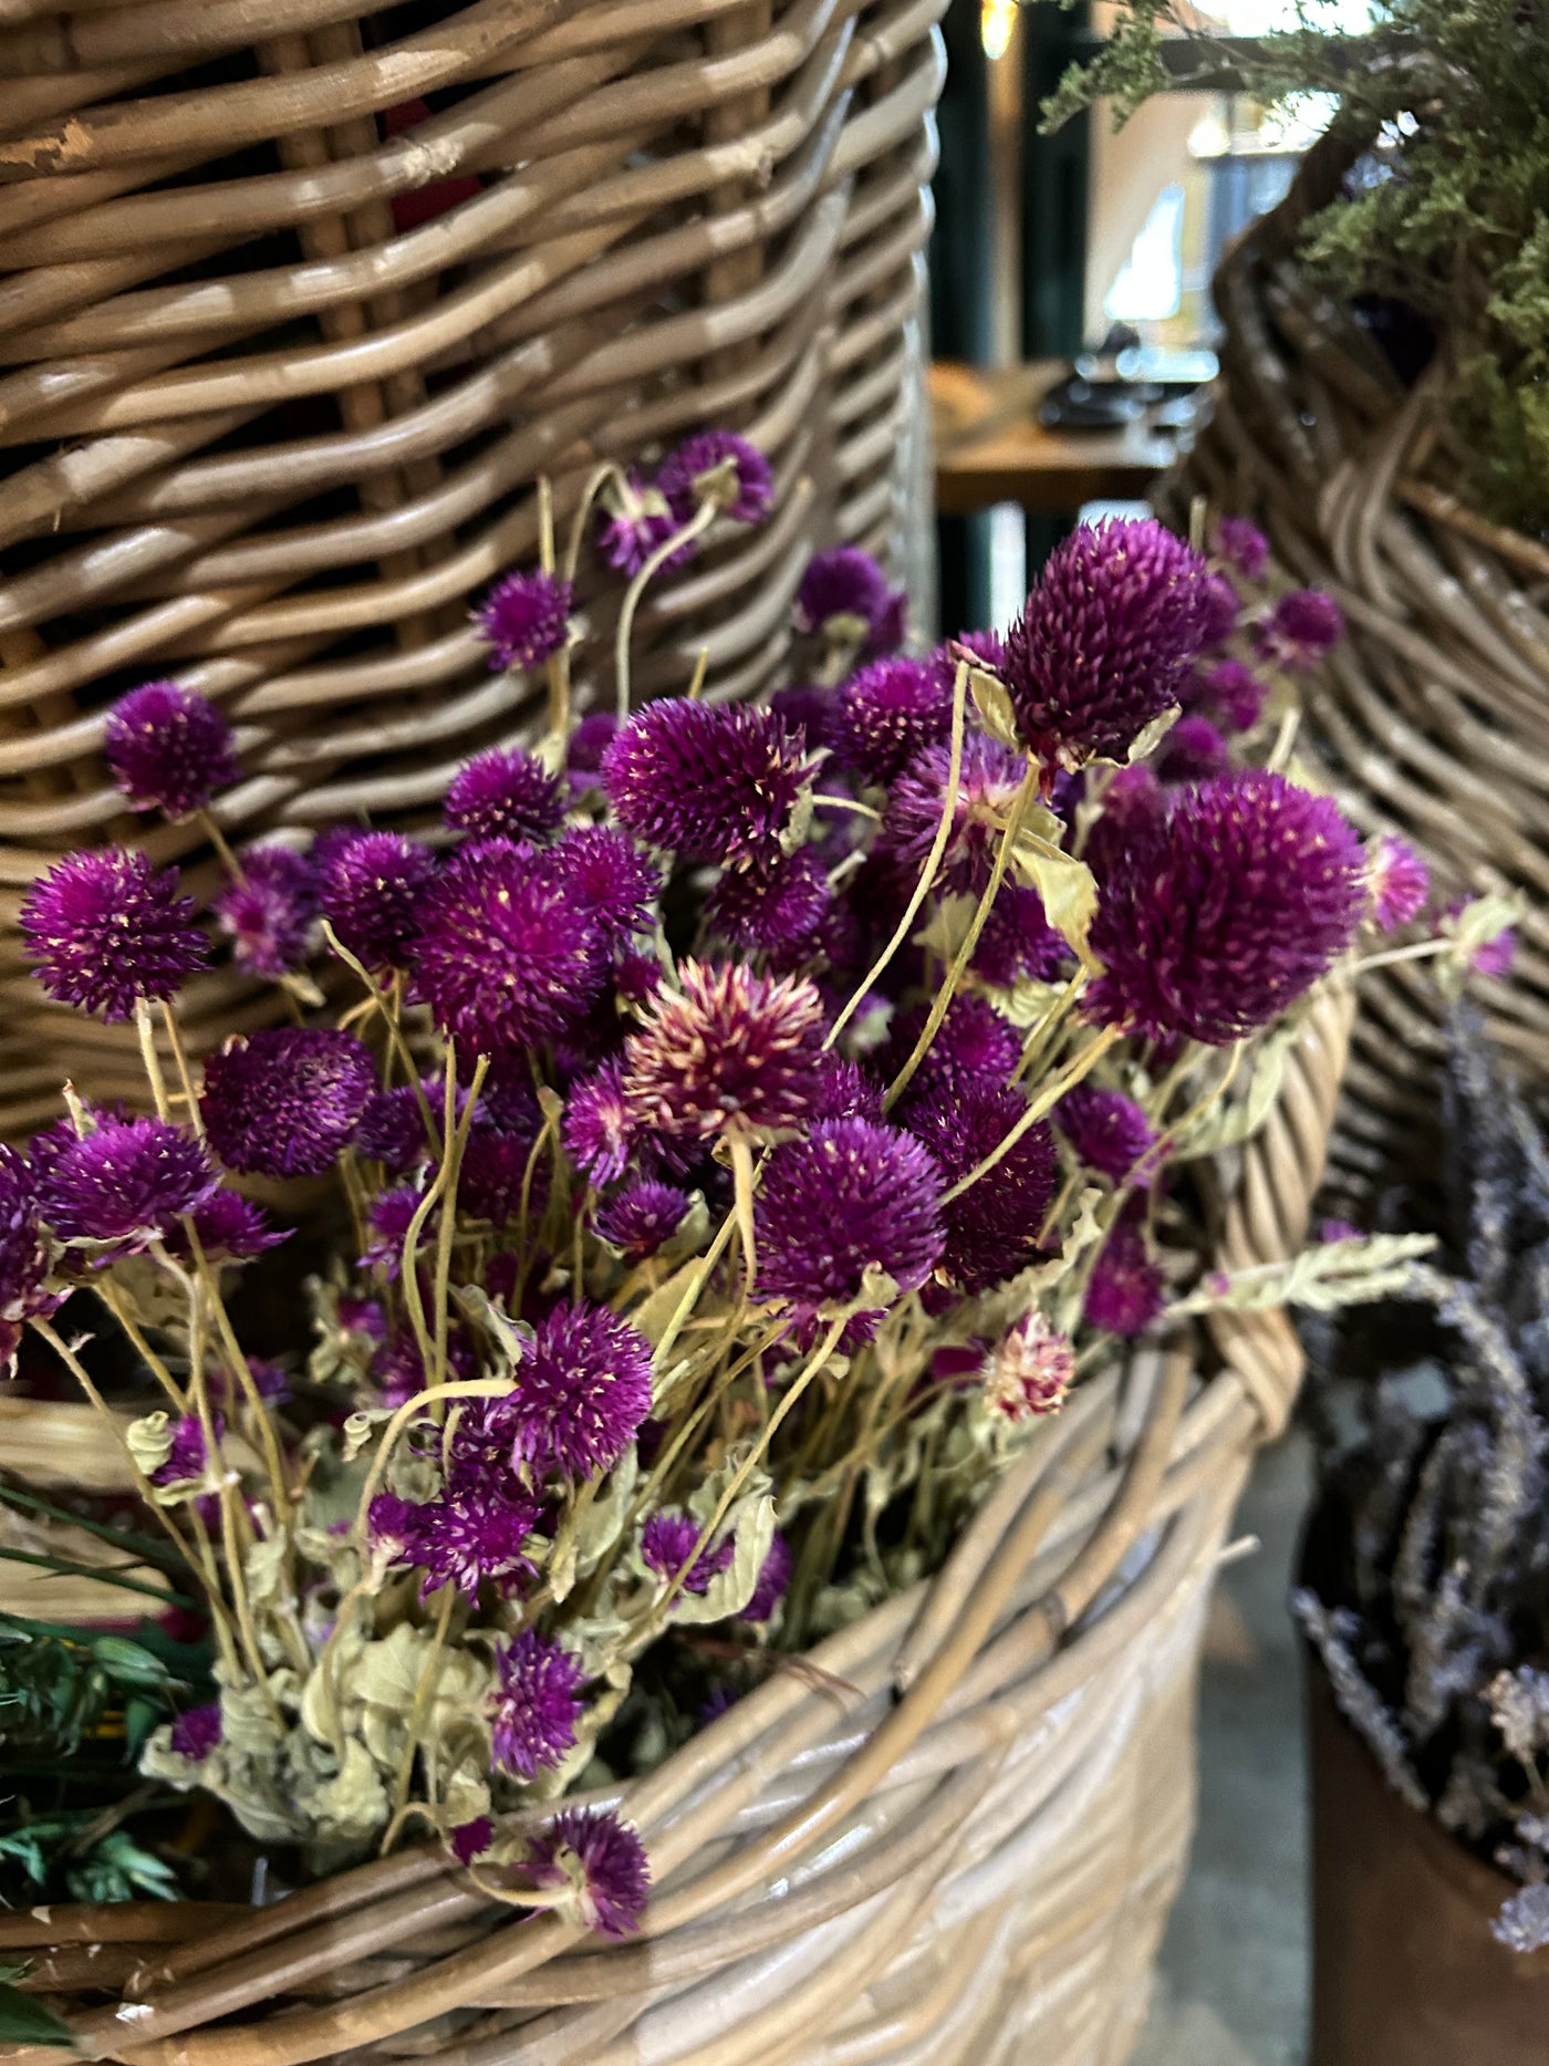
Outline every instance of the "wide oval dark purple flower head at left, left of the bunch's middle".
<path id="1" fill-rule="evenodd" d="M 370 1052 L 333 1027 L 264 1027 L 204 1064 L 211 1147 L 252 1176 L 322 1176 L 355 1138 L 376 1091 Z"/>

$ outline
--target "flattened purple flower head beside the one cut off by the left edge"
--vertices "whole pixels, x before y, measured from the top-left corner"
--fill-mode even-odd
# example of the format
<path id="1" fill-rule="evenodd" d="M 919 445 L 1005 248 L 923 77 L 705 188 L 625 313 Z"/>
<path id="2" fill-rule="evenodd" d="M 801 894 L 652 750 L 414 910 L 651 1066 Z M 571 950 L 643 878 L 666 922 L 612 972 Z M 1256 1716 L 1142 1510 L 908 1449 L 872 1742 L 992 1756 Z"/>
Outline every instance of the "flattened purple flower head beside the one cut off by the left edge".
<path id="1" fill-rule="evenodd" d="M 171 1233 L 215 1190 L 209 1155 L 165 1120 L 103 1120 L 37 1186 L 41 1219 L 62 1242 L 112 1242 L 126 1254 Z"/>

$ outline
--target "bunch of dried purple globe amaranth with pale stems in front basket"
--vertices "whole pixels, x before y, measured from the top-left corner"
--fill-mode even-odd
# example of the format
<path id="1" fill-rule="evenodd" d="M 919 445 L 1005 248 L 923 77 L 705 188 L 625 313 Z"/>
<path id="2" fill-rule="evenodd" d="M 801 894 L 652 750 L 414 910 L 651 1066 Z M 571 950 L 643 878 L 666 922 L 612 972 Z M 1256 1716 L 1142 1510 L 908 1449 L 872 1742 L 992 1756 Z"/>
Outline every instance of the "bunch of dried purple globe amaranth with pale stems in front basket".
<path id="1" fill-rule="evenodd" d="M 725 436 L 659 488 L 599 475 L 566 566 L 597 496 L 659 496 L 675 529 L 628 620 L 766 483 Z M 547 733 L 477 756 L 423 837 L 320 835 L 279 998 L 306 1023 L 202 1072 L 169 1010 L 207 952 L 180 884 L 114 853 L 39 882 L 39 981 L 138 1021 L 153 1109 L 70 1093 L 0 1159 L 0 1347 L 31 1331 L 107 1405 L 91 1287 L 138 1355 L 114 1403 L 217 1682 L 151 1777 L 314 1872 L 428 1826 L 504 1899 L 624 1930 L 634 1833 L 510 1810 L 646 1768 L 934 1570 L 1113 1333 L 1390 1279 L 1402 1242 L 1200 1277 L 1190 1165 L 1262 1120 L 1378 917 L 1373 855 L 1285 769 L 1119 764 L 1179 702 L 1221 756 L 1227 702 L 1243 758 L 1289 738 L 1260 721 L 1291 694 L 1283 605 L 1225 585 L 1239 547 L 1078 533 L 1004 643 L 919 657 L 886 651 L 890 591 L 851 556 L 803 585 L 779 707 L 696 682 L 607 727 L 572 723 L 587 647 L 549 547 L 485 612 Z M 628 707 L 628 643 L 613 663 Z M 176 715 L 184 804 L 188 738 L 219 727 Z M 116 942 L 112 985 L 87 940 Z M 233 1318 L 283 1231 L 250 1173 L 341 1198 L 279 1370 Z"/>

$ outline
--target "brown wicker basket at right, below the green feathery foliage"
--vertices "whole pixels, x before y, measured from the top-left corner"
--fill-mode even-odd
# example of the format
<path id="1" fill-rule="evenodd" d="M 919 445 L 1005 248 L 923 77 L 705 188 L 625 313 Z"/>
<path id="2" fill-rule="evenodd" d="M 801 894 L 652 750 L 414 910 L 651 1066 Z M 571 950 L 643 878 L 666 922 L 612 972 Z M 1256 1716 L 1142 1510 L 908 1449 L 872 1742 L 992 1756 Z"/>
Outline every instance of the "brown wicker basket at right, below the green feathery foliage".
<path id="1" fill-rule="evenodd" d="M 1425 853 L 1444 901 L 1499 888 L 1532 901 L 1510 975 L 1477 994 L 1493 1037 L 1543 1078 L 1549 547 L 1458 500 L 1456 436 L 1429 384 L 1406 390 L 1351 310 L 1303 275 L 1301 227 L 1349 165 L 1349 145 L 1320 143 L 1227 254 L 1214 415 L 1161 502 L 1183 525 L 1200 494 L 1252 516 L 1291 578 L 1338 599 L 1349 638 L 1307 686 L 1299 750 L 1363 828 Z M 1330 1171 L 1353 1202 L 1423 1171 L 1437 1054 L 1423 965 L 1361 985 Z"/>

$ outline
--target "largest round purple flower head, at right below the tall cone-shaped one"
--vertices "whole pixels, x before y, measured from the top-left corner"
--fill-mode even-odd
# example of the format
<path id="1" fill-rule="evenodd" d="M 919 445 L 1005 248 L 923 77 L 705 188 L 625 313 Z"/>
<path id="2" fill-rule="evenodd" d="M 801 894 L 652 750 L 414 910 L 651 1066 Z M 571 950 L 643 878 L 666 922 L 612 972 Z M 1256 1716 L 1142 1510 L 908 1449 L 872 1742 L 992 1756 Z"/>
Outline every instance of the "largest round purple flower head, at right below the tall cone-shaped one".
<path id="1" fill-rule="evenodd" d="M 1262 769 L 1177 789 L 1103 849 L 1086 1008 L 1225 1047 L 1326 975 L 1365 907 L 1365 851 L 1330 797 Z"/>

